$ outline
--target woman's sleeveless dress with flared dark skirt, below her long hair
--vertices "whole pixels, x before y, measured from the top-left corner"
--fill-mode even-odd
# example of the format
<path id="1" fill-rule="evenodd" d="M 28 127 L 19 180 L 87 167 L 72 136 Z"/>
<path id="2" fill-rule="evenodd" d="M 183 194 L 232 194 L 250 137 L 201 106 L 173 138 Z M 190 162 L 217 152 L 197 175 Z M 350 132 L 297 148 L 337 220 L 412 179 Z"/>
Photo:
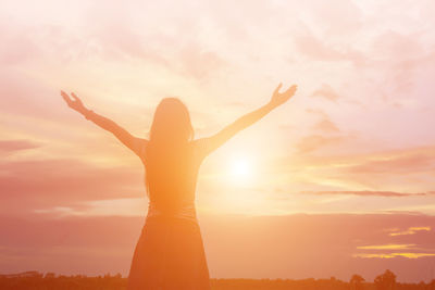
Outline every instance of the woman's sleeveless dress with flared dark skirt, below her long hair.
<path id="1" fill-rule="evenodd" d="M 150 194 L 148 214 L 130 264 L 127 290 L 211 289 L 195 207 L 197 173 L 203 159 L 201 152 L 206 152 L 206 143 L 199 139 L 191 141 L 189 146 L 186 162 L 182 162 L 183 166 L 176 168 L 184 181 L 167 180 L 166 185 L 150 188 L 151 193 L 156 194 Z M 146 165 L 146 153 L 144 156 L 142 162 Z M 182 167 L 187 168 L 183 171 Z M 182 190 L 178 190 L 179 187 Z M 181 198 L 175 205 L 166 206 L 167 200 L 152 199 L 161 193 L 152 190 L 166 194 L 167 190 L 177 191 L 174 196 Z"/>

